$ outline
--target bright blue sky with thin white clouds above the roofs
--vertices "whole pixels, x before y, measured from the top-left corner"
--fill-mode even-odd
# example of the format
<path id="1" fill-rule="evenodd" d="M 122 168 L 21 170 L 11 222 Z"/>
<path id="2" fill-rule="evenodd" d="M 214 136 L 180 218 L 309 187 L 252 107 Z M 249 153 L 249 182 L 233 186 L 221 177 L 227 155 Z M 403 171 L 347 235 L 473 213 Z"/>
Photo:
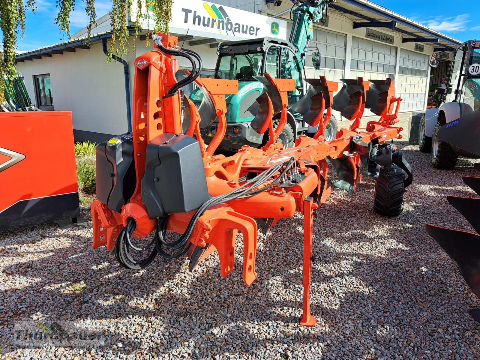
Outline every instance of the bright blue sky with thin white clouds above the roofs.
<path id="1" fill-rule="evenodd" d="M 474 15 L 474 12 L 478 11 L 477 7 L 473 6 L 474 10 L 470 10 L 475 1 L 375 0 L 374 2 L 459 40 L 480 38 L 480 22 Z M 60 42 L 63 36 L 55 25 L 55 17 L 58 13 L 56 1 L 36 0 L 36 3 L 38 6 L 36 14 L 27 13 L 25 37 L 23 41 L 18 42 L 19 50 L 32 50 L 52 45 Z M 84 2 L 76 0 L 75 11 L 70 19 L 71 34 L 86 26 L 87 18 L 84 9 Z M 110 9 L 109 0 L 96 0 L 97 17 L 106 14 Z"/>

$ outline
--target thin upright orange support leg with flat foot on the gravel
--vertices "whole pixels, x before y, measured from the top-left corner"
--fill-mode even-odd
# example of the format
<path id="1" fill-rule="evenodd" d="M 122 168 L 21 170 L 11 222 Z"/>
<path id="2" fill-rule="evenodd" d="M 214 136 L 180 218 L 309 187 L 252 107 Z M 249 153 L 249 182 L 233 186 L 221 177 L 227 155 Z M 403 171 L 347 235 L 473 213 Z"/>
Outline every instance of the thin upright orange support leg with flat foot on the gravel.
<path id="1" fill-rule="evenodd" d="M 317 319 L 310 314 L 310 285 L 312 284 L 313 211 L 317 204 L 312 197 L 303 201 L 303 315 L 300 325 L 313 326 Z"/>

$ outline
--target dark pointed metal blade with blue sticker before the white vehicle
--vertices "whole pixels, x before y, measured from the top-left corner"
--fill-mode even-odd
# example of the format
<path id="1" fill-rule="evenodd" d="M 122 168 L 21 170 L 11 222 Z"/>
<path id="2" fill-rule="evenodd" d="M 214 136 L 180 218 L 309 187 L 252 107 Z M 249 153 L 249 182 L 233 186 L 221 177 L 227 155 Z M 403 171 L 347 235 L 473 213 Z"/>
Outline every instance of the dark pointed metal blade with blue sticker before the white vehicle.
<path id="1" fill-rule="evenodd" d="M 458 155 L 480 157 L 480 109 L 445 124 L 438 139 L 450 144 Z"/>

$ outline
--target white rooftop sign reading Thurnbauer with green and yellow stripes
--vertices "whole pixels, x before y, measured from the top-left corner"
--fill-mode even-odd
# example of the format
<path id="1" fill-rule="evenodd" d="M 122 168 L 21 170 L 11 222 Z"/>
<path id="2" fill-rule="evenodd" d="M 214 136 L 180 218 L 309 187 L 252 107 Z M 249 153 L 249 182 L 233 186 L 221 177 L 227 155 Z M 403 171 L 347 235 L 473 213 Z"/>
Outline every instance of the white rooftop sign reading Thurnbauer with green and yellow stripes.
<path id="1" fill-rule="evenodd" d="M 136 3 L 132 2 L 131 22 L 137 20 Z M 143 29 L 155 28 L 155 13 L 151 10 L 149 9 L 147 17 L 140 21 Z M 188 35 L 230 41 L 265 36 L 284 40 L 287 38 L 285 20 L 201 0 L 175 1 L 172 5 L 172 21 L 169 27 L 170 33 L 173 34 L 186 34 L 188 30 Z"/>

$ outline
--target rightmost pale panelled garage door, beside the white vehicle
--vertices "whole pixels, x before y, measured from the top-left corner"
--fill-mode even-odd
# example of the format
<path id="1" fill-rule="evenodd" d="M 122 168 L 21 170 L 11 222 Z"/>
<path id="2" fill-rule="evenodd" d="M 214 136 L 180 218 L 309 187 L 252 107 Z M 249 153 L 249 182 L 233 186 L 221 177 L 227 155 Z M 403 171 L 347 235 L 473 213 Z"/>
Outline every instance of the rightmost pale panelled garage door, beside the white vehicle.
<path id="1" fill-rule="evenodd" d="M 400 49 L 397 92 L 403 101 L 402 110 L 423 110 L 427 91 L 429 57 L 418 52 Z"/>

